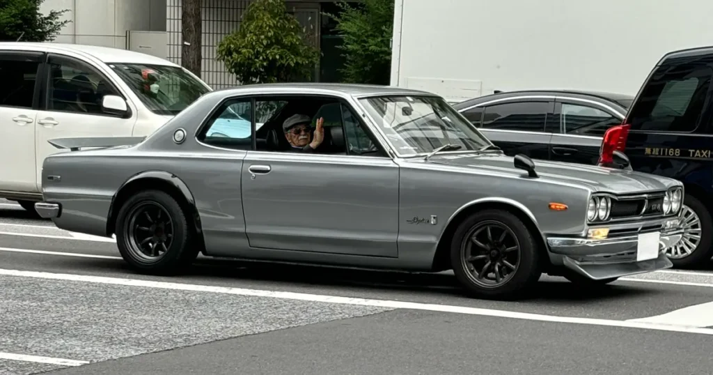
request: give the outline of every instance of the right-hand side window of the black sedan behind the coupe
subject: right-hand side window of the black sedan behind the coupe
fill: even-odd
[[[568,103],[562,104],[560,119],[565,133],[580,136],[604,136],[607,129],[622,123],[601,109]]]

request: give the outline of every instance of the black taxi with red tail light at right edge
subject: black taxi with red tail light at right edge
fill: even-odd
[[[709,266],[713,257],[712,79],[713,46],[666,54],[622,124],[605,132],[600,149],[600,165],[612,165],[615,151],[621,151],[631,169],[684,183],[686,231],[677,246],[667,249],[675,268]]]

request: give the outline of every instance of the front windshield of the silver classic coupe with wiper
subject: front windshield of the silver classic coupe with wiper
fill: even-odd
[[[399,154],[416,155],[440,146],[461,146],[458,151],[491,144],[446,101],[436,96],[379,96],[359,99],[376,126]]]

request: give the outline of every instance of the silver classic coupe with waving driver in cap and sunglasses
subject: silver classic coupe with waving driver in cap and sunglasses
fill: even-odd
[[[543,273],[596,286],[667,269],[682,235],[679,181],[506,156],[424,91],[240,86],[145,138],[49,142],[36,211],[116,236],[152,274],[199,253],[452,269],[474,296],[511,299]]]

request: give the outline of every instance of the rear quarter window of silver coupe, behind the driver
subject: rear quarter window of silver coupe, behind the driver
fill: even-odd
[[[198,141],[225,149],[250,150],[250,99],[225,101],[198,134]]]

